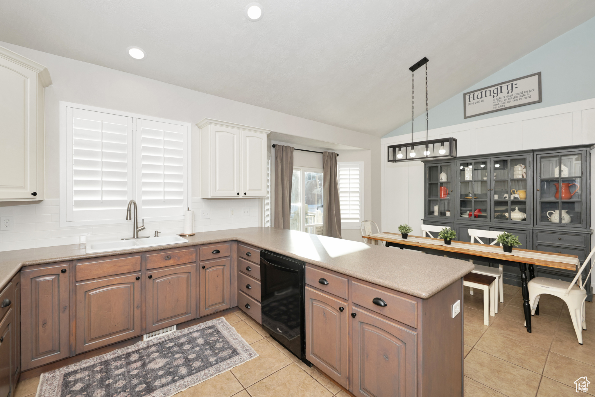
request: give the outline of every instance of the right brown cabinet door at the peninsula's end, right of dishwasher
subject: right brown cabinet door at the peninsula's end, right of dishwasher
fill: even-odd
[[[417,334],[357,308],[352,312],[353,394],[415,396]]]

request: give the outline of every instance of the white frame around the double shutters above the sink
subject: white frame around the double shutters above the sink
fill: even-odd
[[[132,117],[133,119],[133,173],[131,175],[131,183],[133,184],[133,199],[135,201],[138,200],[138,190],[137,189],[137,130],[136,130],[136,119],[142,118],[143,120],[152,120],[158,121],[161,123],[170,123],[170,124],[177,124],[179,126],[185,126],[187,128],[187,144],[184,147],[184,167],[186,168],[186,186],[187,192],[186,196],[184,197],[184,205],[186,207],[190,207],[192,203],[192,159],[190,158],[190,149],[192,147],[192,142],[190,139],[192,138],[192,124],[191,123],[184,123],[183,121],[177,120],[169,120],[167,118],[160,118],[160,117],[152,117],[144,114],[137,114],[125,111],[118,111],[106,108],[99,108],[95,106],[88,106],[88,105],[81,105],[81,104],[74,104],[72,102],[64,102],[60,101],[60,227],[68,227],[68,226],[94,226],[94,225],[104,225],[104,224],[111,224],[111,225],[126,225],[129,224],[131,221],[126,221],[126,213],[123,212],[122,214],[122,221],[121,222],[114,222],[114,220],[91,220],[91,221],[67,221],[66,214],[67,214],[67,183],[66,183],[66,173],[67,173],[67,158],[66,158],[66,142],[67,142],[67,121],[66,121],[66,108],[77,108],[82,110],[88,111],[95,111],[95,112],[102,112],[102,113],[109,113],[115,115],[121,115],[124,117]],[[142,217],[142,210],[139,205],[139,218]],[[183,220],[184,216],[180,215],[177,217],[159,217],[159,218],[145,218],[146,221],[151,220],[159,220],[159,221],[170,221],[170,220]]]

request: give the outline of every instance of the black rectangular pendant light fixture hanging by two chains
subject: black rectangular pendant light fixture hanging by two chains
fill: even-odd
[[[415,71],[425,65],[425,140],[415,142],[414,137],[414,82]],[[428,58],[424,57],[411,70],[411,143],[401,143],[388,147],[388,161],[399,162],[424,158],[456,157],[456,139],[453,137],[428,140]],[[436,152],[436,146],[439,146]],[[430,150],[431,149],[431,150]],[[416,152],[417,150],[417,152]],[[423,153],[423,155],[421,155]]]

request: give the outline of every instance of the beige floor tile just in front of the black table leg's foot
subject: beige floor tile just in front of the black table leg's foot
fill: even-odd
[[[490,330],[484,333],[479,342],[475,344],[474,349],[502,358],[502,360],[512,362],[512,364],[538,374],[543,371],[547,360],[547,350],[497,332],[490,332]]]

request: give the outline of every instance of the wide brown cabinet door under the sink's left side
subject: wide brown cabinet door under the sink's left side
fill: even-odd
[[[76,353],[140,335],[140,273],[76,284]]]

